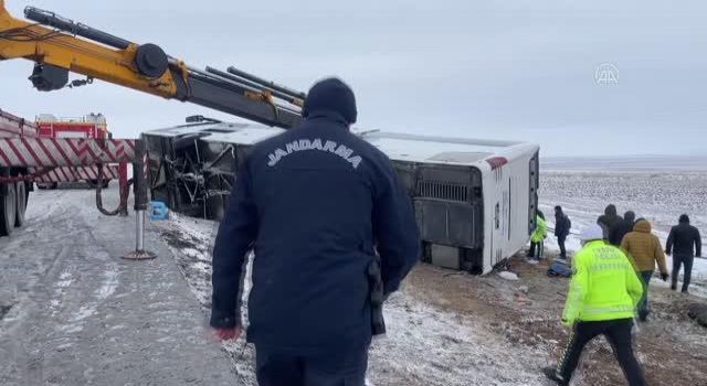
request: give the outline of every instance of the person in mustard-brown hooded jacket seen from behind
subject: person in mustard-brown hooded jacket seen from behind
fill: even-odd
[[[633,226],[633,232],[623,237],[621,249],[625,250],[635,264],[636,270],[643,279],[643,299],[639,304],[639,319],[645,322],[648,318],[648,283],[658,264],[661,279],[667,281],[667,268],[665,267],[665,254],[661,240],[651,233],[651,223],[640,218]]]

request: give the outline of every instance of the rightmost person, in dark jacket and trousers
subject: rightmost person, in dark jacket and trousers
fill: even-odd
[[[703,254],[703,240],[699,230],[689,225],[689,217],[684,214],[678,219],[678,225],[671,229],[665,244],[665,254],[673,253],[673,277],[671,280],[671,289],[677,289],[677,276],[680,272],[680,266],[685,264],[685,277],[683,279],[683,293],[687,293],[689,280],[693,276],[693,260],[695,256],[700,257]]]

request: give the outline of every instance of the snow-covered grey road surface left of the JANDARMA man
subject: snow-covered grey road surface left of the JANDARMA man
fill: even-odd
[[[117,189],[104,192],[114,206]],[[106,217],[91,190],[30,195],[0,238],[0,385],[234,385],[159,235],[128,261],[135,217]]]

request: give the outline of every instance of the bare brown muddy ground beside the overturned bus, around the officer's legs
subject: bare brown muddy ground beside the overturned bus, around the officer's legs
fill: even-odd
[[[559,322],[568,279],[549,278],[549,262],[510,261],[518,281],[492,275],[487,278],[453,275],[420,265],[409,278],[421,300],[458,313],[474,325],[486,324],[499,339],[515,345],[544,347],[555,364],[564,349],[569,330]],[[527,294],[519,289],[527,287]],[[409,289],[410,290],[410,289]],[[690,303],[704,299],[667,288],[651,287],[653,313],[641,323],[636,353],[650,385],[707,385],[707,329],[688,317]],[[603,339],[588,346],[576,385],[622,385],[621,368]]]

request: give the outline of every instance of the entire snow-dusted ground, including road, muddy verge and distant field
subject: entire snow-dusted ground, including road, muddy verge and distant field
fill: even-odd
[[[541,208],[564,206],[574,232],[611,202],[653,221],[662,238],[684,212],[705,230],[704,192],[707,172],[698,170],[544,169],[540,190]],[[115,203],[115,191],[108,195]],[[255,385],[253,347],[209,339],[217,223],[176,214],[148,222],[147,245],[159,258],[125,261],[134,218],[101,216],[93,199],[87,190],[33,193],[28,225],[0,238],[0,384]],[[570,249],[578,246],[570,237]],[[518,280],[415,267],[386,303],[388,334],[373,342],[369,384],[549,385],[539,369],[555,364],[567,340],[559,322],[567,280],[548,278],[547,261],[516,258],[508,267]],[[696,270],[689,297],[654,281],[653,319],[636,336],[651,384],[707,385],[707,335],[686,313],[704,303],[695,294],[706,285],[705,260]],[[599,340],[574,384],[621,379]]]

